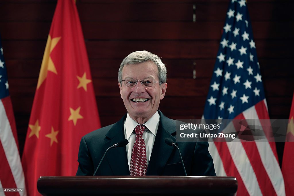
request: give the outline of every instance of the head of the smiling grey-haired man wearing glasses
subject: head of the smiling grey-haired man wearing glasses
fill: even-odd
[[[143,125],[157,112],[159,102],[165,95],[166,67],[162,62],[157,66],[152,61],[134,64],[136,60],[132,56],[137,53],[131,53],[122,62],[118,86],[128,115]]]

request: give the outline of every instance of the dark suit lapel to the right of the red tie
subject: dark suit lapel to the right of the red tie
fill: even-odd
[[[174,149],[165,143],[165,138],[171,138],[176,143],[176,138],[173,136],[176,132],[176,126],[171,119],[167,118],[158,110],[160,121],[156,138],[154,141],[151,158],[149,160],[147,175],[161,175],[171,153]]]

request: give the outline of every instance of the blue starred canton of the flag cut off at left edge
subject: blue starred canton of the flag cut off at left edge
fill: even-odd
[[[6,65],[4,62],[3,48],[0,35],[0,99],[9,96],[9,85],[7,80]]]

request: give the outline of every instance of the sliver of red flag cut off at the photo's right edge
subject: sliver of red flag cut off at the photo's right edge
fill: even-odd
[[[284,147],[282,172],[285,181],[286,195],[294,195],[294,94]]]

